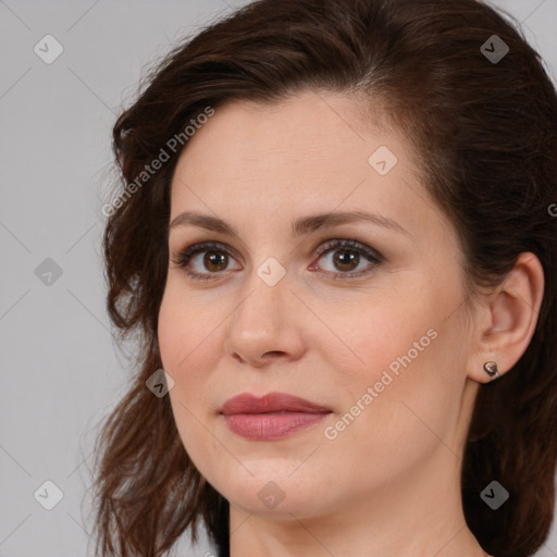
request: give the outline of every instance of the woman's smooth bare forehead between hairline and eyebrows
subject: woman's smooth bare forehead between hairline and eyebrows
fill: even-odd
[[[354,97],[321,92],[215,109],[178,160],[171,220],[197,210],[242,228],[338,208],[381,212],[407,230],[431,223],[438,209],[404,143],[362,114]]]

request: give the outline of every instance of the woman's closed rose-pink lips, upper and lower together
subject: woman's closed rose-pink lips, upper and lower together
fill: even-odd
[[[331,410],[286,393],[243,393],[222,406],[228,429],[248,440],[277,440],[323,420]]]

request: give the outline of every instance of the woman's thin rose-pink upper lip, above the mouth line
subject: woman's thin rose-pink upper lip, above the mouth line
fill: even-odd
[[[234,413],[280,412],[281,410],[308,413],[331,411],[329,408],[314,405],[309,400],[298,396],[288,395],[287,393],[269,393],[262,397],[258,397],[250,393],[243,393],[228,398],[228,400],[226,400],[222,406],[220,412],[228,416]]]

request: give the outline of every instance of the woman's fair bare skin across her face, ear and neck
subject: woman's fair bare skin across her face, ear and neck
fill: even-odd
[[[384,176],[368,162],[380,146],[398,159]],[[159,315],[178,433],[231,504],[232,557],[486,555],[466,525],[461,457],[475,395],[490,381],[483,363],[495,360],[504,373],[533,334],[543,295],[537,259],[523,253],[497,289],[467,299],[458,237],[418,183],[404,138],[367,121],[354,98],[331,92],[219,108],[173,176],[170,221],[186,210],[239,234],[171,228]],[[379,213],[407,233],[358,222],[290,236],[298,216],[348,210]],[[385,260],[371,268],[360,256],[343,268],[334,257],[350,248],[315,255],[336,238]],[[208,253],[198,252],[188,269],[213,278],[194,281],[175,261],[210,240],[228,247],[228,260],[207,267]],[[270,257],[286,271],[274,286],[257,273]],[[429,346],[327,438],[325,428],[431,330]],[[332,413],[273,441],[245,440],[219,413],[239,393],[273,391]],[[258,497],[270,481],[284,495],[273,508]]]

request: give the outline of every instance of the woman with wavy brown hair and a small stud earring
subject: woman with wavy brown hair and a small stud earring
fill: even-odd
[[[99,554],[523,557],[553,520],[557,95],[475,0],[261,0],[114,126],[137,373]],[[139,348],[140,347],[140,348]]]

